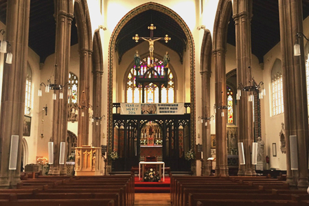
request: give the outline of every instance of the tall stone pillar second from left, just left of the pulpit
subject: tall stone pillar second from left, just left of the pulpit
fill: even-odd
[[[55,4],[56,18],[56,45],[55,45],[55,80],[56,84],[65,85],[69,81],[69,60],[71,48],[71,21],[73,20],[73,1],[58,0]],[[54,82],[52,82],[54,83]],[[63,99],[60,100],[60,91],[54,91],[57,99],[54,100],[52,141],[54,141],[53,175],[66,175],[66,165],[59,164],[60,142],[67,144],[67,91],[63,87]],[[66,161],[66,159],[65,159]]]

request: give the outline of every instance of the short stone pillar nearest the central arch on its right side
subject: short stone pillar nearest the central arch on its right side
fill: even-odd
[[[202,113],[205,115],[204,121],[207,122],[207,126],[205,123],[202,123],[202,142],[203,142],[203,156],[205,162],[205,170],[203,170],[204,175],[209,176],[211,174],[212,162],[207,161],[209,157],[211,157],[211,134],[210,128],[211,125],[209,122],[211,119],[207,119],[211,116],[210,113],[210,71],[201,71],[202,76]]]

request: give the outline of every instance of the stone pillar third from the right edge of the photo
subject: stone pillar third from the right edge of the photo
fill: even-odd
[[[214,66],[216,70],[216,175],[229,176],[227,168],[227,109],[218,109],[227,105],[227,82],[225,74],[225,50],[215,49]],[[222,117],[221,113],[224,113]]]

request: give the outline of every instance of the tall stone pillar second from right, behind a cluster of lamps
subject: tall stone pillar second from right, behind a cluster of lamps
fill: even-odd
[[[252,0],[233,1],[233,19],[236,30],[236,65],[238,85],[252,85],[251,76],[251,17]],[[242,91],[238,100],[238,141],[244,144],[245,165],[240,165],[238,175],[255,175],[251,164],[253,143],[253,104],[249,102],[252,92]]]

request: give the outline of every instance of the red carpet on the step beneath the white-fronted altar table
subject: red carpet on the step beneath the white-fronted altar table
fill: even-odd
[[[163,183],[140,182],[135,176],[135,193],[170,193],[170,177],[165,176]]]

